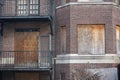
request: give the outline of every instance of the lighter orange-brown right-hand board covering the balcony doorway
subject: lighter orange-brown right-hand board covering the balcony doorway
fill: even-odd
[[[38,36],[39,32],[24,32],[24,51],[31,51],[29,54],[24,53],[26,56],[26,63],[37,65],[38,62]]]

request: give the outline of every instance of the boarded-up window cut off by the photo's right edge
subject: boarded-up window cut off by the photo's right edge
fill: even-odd
[[[116,27],[116,48],[117,53],[120,53],[120,26]]]

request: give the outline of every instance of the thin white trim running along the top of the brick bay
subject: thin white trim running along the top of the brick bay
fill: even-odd
[[[66,3],[64,5],[60,5],[57,6],[56,9],[62,8],[62,7],[66,7],[66,6],[70,6],[70,5],[117,5],[117,3],[114,2],[69,2]]]

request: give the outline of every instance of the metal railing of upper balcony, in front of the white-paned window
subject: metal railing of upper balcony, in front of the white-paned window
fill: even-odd
[[[34,1],[38,2],[36,3]],[[29,17],[50,15],[51,15],[51,0],[0,1],[0,17]]]

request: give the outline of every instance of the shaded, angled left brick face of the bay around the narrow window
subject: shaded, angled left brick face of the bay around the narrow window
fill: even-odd
[[[70,7],[64,7],[64,8],[61,8],[59,10],[57,10],[57,24],[56,24],[56,29],[55,29],[55,43],[56,43],[56,46],[55,46],[55,50],[57,51],[56,54],[59,54],[60,52],[60,28],[62,26],[66,26],[66,32],[69,33],[70,30],[69,30],[69,26],[70,26]],[[67,37],[67,42],[66,44],[69,46],[69,34],[66,35]],[[67,47],[67,52],[69,51],[69,47]]]

